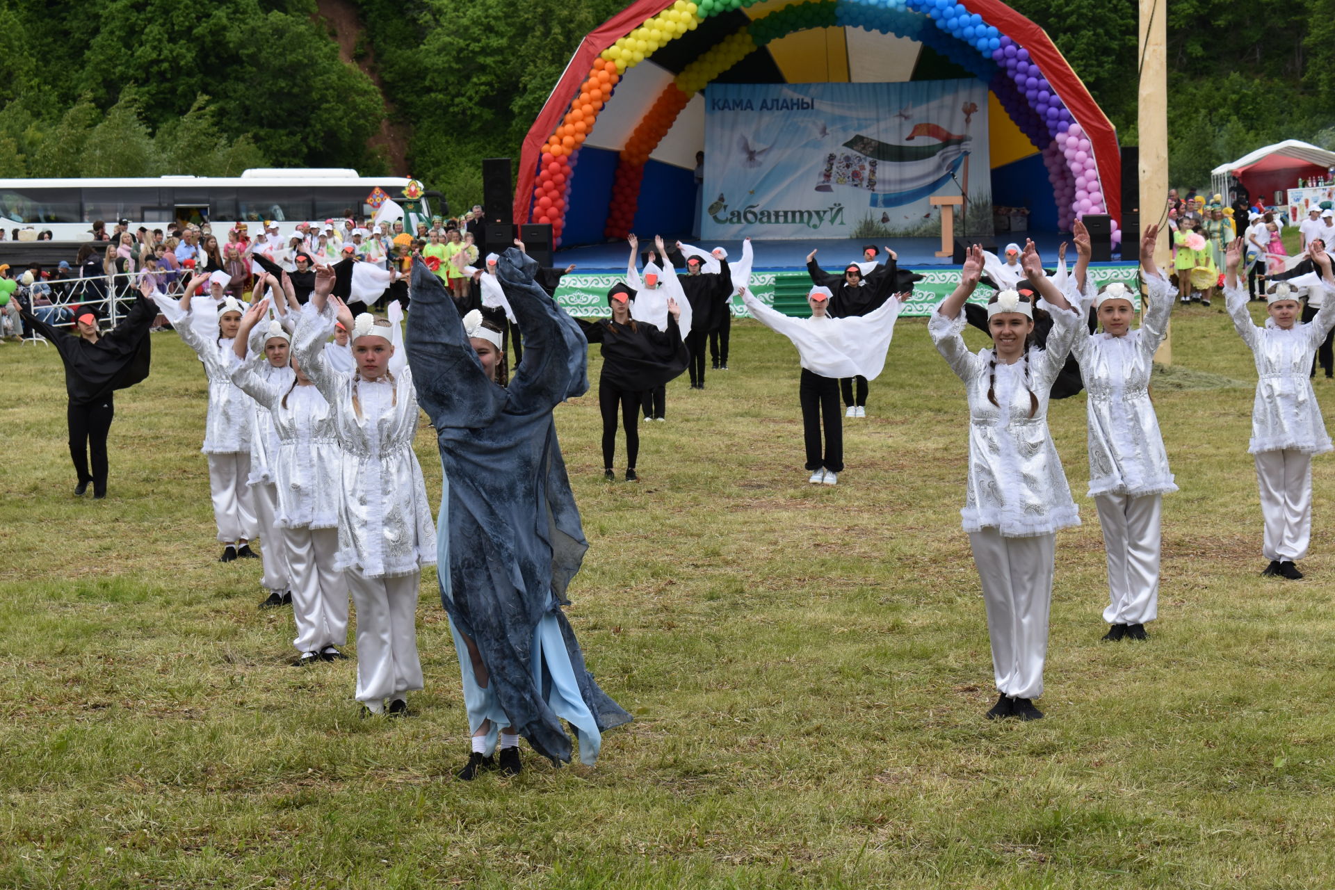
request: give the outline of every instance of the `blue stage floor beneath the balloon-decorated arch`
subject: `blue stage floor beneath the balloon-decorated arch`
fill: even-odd
[[[1000,232],[995,236],[997,252],[1000,254],[1009,242],[1016,242],[1024,247],[1025,238],[1033,239],[1039,252],[1043,255],[1044,263],[1048,266],[1052,266],[1056,262],[1057,246],[1061,244],[1061,242],[1071,240],[1071,235],[1063,235],[1060,232]],[[728,251],[728,256],[734,259],[741,256],[742,251],[741,242],[710,242],[708,239],[692,239],[689,236],[663,236],[663,242],[669,246],[677,240],[682,240],[688,244],[694,244],[696,247],[702,247],[705,250],[722,247]],[[900,266],[906,268],[920,270],[926,267],[940,268],[953,266],[949,256],[936,256],[936,251],[941,246],[940,238],[902,238],[881,239],[876,242],[841,238],[794,242],[752,242],[752,247],[756,251],[753,268],[756,271],[802,270],[806,268],[806,255],[813,248],[820,251],[816,255],[816,260],[821,264],[821,268],[838,268],[846,263],[861,260],[862,246],[868,243],[874,243],[877,247],[893,247],[894,252],[898,255]],[[643,252],[647,250],[653,250],[651,235],[647,238],[639,238],[639,251]],[[625,242],[587,244],[582,247],[558,250],[554,266],[569,266],[570,263],[574,263],[581,272],[617,272],[626,268],[626,259],[629,255],[630,248]],[[1113,256],[1116,258],[1116,252]],[[885,259],[884,252],[880,259]],[[1067,248],[1067,259],[1072,263],[1075,262],[1075,246]]]

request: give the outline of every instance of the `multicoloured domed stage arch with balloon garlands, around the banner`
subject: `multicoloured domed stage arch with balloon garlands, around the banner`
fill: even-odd
[[[1031,156],[1024,197],[1060,230],[1108,213],[1120,240],[1116,131],[1047,33],[997,0],[638,0],[583,39],[525,137],[514,217],[550,223],[558,244],[686,231],[710,83],[933,76],[987,84],[993,165]]]

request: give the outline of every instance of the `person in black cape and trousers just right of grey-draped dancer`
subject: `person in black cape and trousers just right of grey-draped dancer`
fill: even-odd
[[[630,316],[633,294],[625,284],[607,291],[610,319],[579,322],[585,339],[602,344],[602,374],[598,376],[598,408],[602,411],[602,464],[607,482],[615,482],[613,458],[617,454],[617,411],[626,424],[626,482],[637,482],[639,455],[639,407],[647,390],[666,386],[686,370],[689,360],[682,343],[681,307],[668,298],[668,330]]]

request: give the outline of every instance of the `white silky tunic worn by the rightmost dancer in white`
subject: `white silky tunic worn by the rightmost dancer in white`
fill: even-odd
[[[1335,324],[1335,288],[1324,287],[1320,311],[1307,324],[1292,328],[1258,327],[1247,311],[1247,288],[1224,288],[1224,303],[1234,327],[1251,347],[1256,363],[1256,400],[1252,403],[1252,436],[1247,451],[1282,451],[1292,448],[1304,454],[1331,450],[1331,438],[1316,404],[1312,371],[1316,347]]]

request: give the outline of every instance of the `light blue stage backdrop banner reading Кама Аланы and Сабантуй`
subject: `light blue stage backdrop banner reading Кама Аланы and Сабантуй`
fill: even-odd
[[[987,108],[973,79],[710,84],[704,238],[940,235],[928,199],[961,189],[991,220]]]

